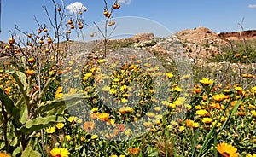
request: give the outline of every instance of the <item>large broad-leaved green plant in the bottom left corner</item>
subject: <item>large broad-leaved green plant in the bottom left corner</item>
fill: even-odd
[[[38,152],[32,150],[33,146],[26,147],[29,142],[32,142],[32,134],[52,124],[65,122],[65,119],[61,116],[64,110],[84,99],[84,94],[41,102],[50,82],[54,80],[53,78],[49,78],[41,92],[35,92],[29,96],[28,92],[31,91],[31,86],[26,80],[30,80],[30,78],[27,78],[21,72],[12,72],[12,75],[19,85],[22,95],[15,103],[0,88],[5,149],[15,149],[15,154],[22,153],[22,156],[39,156]],[[20,147],[25,149],[19,153],[19,150],[22,151]]]

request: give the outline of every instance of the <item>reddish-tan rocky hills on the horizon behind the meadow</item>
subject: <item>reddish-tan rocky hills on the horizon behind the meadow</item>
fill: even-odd
[[[243,38],[246,40],[256,39],[256,30],[216,33],[206,27],[196,27],[194,29],[176,32],[172,37],[167,38],[156,38],[152,32],[143,32],[136,34],[132,38],[109,40],[107,49],[111,51],[122,47],[135,47],[136,49],[147,49],[149,51],[164,53],[168,49],[163,47],[163,43],[165,46],[168,45],[169,50],[170,45],[177,46],[178,44],[191,60],[205,60],[217,55],[219,46],[229,45],[230,40],[241,40]],[[61,43],[61,45],[63,45],[61,47],[65,47],[66,44],[67,43]],[[8,55],[6,53],[7,45],[8,44],[0,42],[0,57]],[[86,47],[88,47],[88,45]],[[99,43],[97,47],[99,53],[101,53],[102,44]],[[174,49],[172,49],[172,51],[173,55],[183,54],[180,51],[175,52]],[[97,55],[97,50],[93,55]]]

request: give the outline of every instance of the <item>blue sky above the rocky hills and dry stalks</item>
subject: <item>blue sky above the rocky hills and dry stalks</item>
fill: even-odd
[[[61,4],[61,0],[55,0]],[[107,0],[109,3],[112,1]],[[213,32],[234,32],[241,28],[238,23],[244,18],[245,30],[256,29],[256,0],[121,0],[121,9],[114,17],[134,16],[160,23],[170,32],[206,26]],[[84,20],[88,24],[104,20],[103,0],[63,0],[65,5],[81,2],[88,9]],[[53,9],[51,0],[2,0],[2,33],[0,40],[8,41],[15,25],[24,32],[36,32],[34,16],[48,23],[43,6]],[[127,23],[126,25],[133,25]],[[149,26],[145,26],[150,27]],[[85,30],[87,27],[84,28]],[[142,31],[142,30],[140,30]]]

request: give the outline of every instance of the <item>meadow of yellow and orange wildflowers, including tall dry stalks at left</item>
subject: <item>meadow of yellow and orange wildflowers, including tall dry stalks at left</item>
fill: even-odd
[[[137,41],[113,44],[119,1],[102,1],[103,27],[94,23],[89,34],[86,8],[70,15],[50,2],[54,15],[44,10],[52,25],[37,20],[30,33],[16,26],[4,47],[0,156],[256,156],[256,74],[240,68],[253,65],[251,44],[235,54],[225,47],[212,62],[234,61],[238,69],[215,74],[182,57],[133,49]]]

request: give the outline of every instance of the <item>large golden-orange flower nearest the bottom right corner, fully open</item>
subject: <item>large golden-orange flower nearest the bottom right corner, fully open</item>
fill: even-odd
[[[218,143],[217,145],[218,153],[224,157],[238,157],[237,148],[233,147],[227,143]]]

